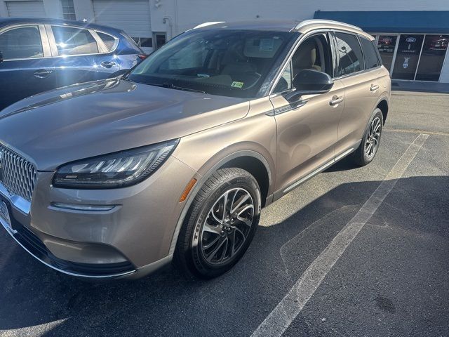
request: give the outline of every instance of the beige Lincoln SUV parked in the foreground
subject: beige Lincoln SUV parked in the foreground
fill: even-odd
[[[136,278],[173,260],[216,277],[263,206],[343,157],[373,160],[390,89],[358,27],[200,25],[121,77],[2,110],[0,222],[68,275]]]

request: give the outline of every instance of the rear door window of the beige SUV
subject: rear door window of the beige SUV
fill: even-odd
[[[340,59],[336,77],[361,71],[363,55],[357,37],[352,34],[335,33],[335,39]]]

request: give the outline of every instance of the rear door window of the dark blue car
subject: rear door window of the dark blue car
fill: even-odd
[[[51,26],[59,55],[98,53],[97,41],[87,29]]]

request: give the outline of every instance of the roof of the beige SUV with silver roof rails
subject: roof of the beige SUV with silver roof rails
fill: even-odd
[[[342,29],[349,32],[370,37],[369,34],[354,25],[333,20],[248,20],[234,22],[205,22],[194,29],[236,29],[236,30],[260,30],[272,32],[300,32],[305,33],[314,29]]]

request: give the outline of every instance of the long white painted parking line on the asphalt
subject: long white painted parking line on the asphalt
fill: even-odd
[[[396,185],[398,179],[403,176],[408,165],[413,161],[427,138],[429,138],[429,135],[424,133],[420,133],[420,136],[417,136],[354,218],[343,227],[326,249],[309,265],[292,289],[288,291],[287,295],[276,305],[276,308],[264,319],[260,326],[255,329],[251,337],[282,336],[293,322],[293,319],[297,317],[304,305],[318,289],[324,277],[326,277],[333,265],[335,265],[349,244],[357,236],[358,232],[377,211],[382,201]]]

